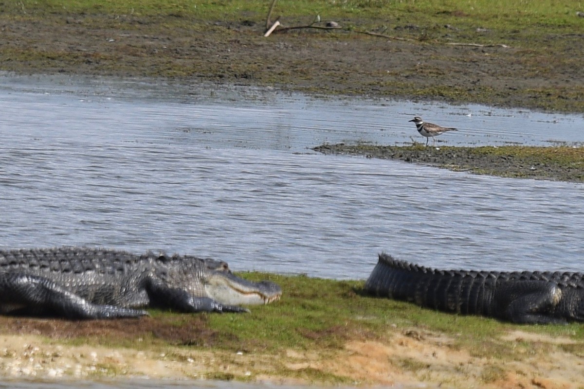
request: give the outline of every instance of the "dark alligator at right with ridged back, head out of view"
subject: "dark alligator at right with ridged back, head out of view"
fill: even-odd
[[[367,292],[523,324],[584,321],[584,274],[437,270],[380,254]]]

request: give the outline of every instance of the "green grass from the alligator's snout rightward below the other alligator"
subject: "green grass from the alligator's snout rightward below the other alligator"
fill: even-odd
[[[492,318],[442,313],[363,295],[362,281],[258,273],[245,274],[245,278],[269,278],[281,285],[284,295],[277,303],[251,307],[248,315],[209,315],[210,327],[225,335],[228,340],[224,346],[228,349],[237,339],[239,346],[250,351],[334,350],[349,339],[387,341],[412,328],[451,338],[452,347],[467,349],[471,355],[502,360],[522,358],[523,352],[533,347],[529,342],[517,346],[500,338],[513,330],[584,343],[580,324],[515,325]],[[578,352],[576,349],[574,352]]]

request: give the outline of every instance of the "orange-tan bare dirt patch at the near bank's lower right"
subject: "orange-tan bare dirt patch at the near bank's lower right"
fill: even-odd
[[[582,369],[572,370],[571,363],[566,362],[568,355],[561,352],[543,359],[531,356],[501,363],[459,350],[449,339],[415,339],[406,335],[397,335],[391,344],[354,342],[346,347],[353,355],[343,369],[360,374],[363,379],[375,377],[380,384],[426,382],[445,387],[568,388],[582,382]]]

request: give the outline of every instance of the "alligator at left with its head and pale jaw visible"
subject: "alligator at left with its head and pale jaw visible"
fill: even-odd
[[[249,312],[239,304],[267,304],[281,289],[235,276],[226,262],[90,247],[0,250],[0,313],[123,318],[145,307],[180,312]]]

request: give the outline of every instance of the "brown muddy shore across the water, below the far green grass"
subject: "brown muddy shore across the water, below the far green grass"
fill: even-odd
[[[0,70],[584,111],[580,34],[508,34],[440,24],[428,28],[409,20],[338,22],[345,28],[293,30],[265,38],[260,16],[196,20],[16,10],[0,15]],[[282,23],[305,21],[283,18]],[[391,38],[359,33],[376,26],[389,27],[385,35]]]

